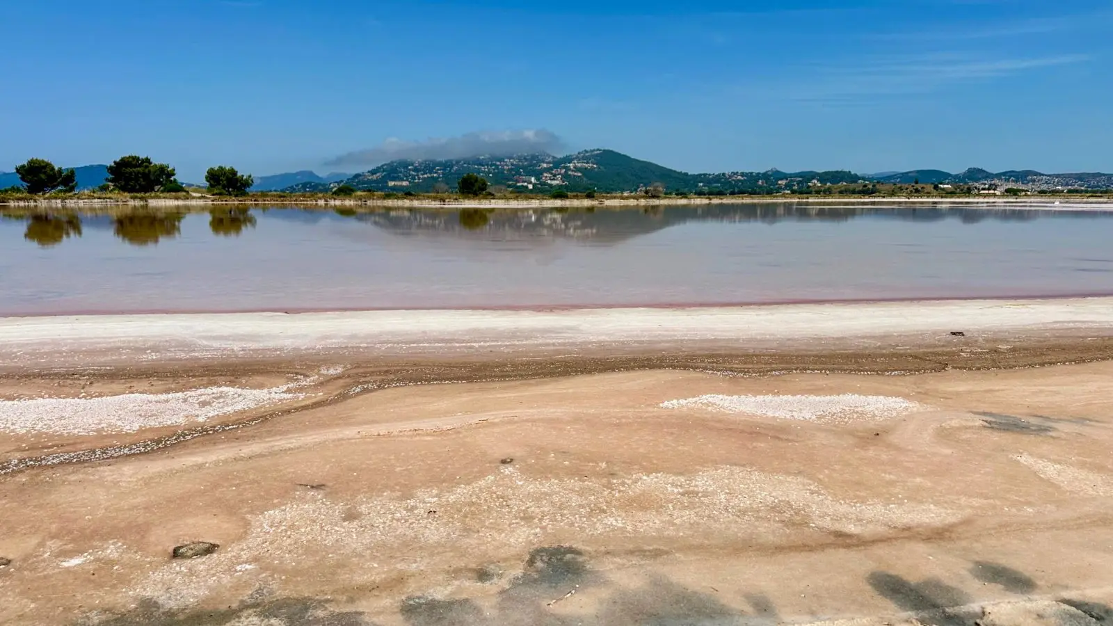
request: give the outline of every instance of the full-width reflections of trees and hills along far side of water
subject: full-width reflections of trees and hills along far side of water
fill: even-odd
[[[957,219],[964,224],[983,221],[1028,222],[1038,218],[1113,218],[1100,211],[1050,211],[1001,206],[874,206],[824,205],[814,203],[658,205],[637,208],[396,208],[371,209],[339,207],[334,211],[257,207],[214,207],[209,229],[214,235],[234,237],[254,228],[256,215],[295,224],[343,223],[356,219],[383,232],[420,237],[454,237],[489,242],[530,242],[542,245],[559,239],[593,244],[614,244],[641,235],[689,223],[778,224],[782,222],[848,222],[899,219],[940,222]],[[42,212],[26,208],[0,209],[7,219],[27,222],[24,238],[42,247],[56,246],[69,237],[80,237],[82,226],[107,229],[136,246],[157,244],[180,234],[186,213],[180,211],[139,209],[115,215],[79,215],[72,211]]]

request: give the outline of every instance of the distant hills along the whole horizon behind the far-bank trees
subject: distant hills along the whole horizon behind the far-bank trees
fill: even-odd
[[[96,188],[108,177],[107,166],[104,165],[87,165],[75,169],[79,189]],[[805,189],[816,183],[838,185],[871,182],[896,185],[996,185],[1002,188],[1014,186],[1033,190],[1113,189],[1113,174],[1043,174],[1032,169],[993,173],[971,168],[958,174],[942,169],[915,169],[873,175],[846,170],[778,169],[688,174],[614,150],[594,149],[562,157],[524,154],[449,160],[394,160],[356,175],[333,173],[319,176],[309,170],[292,172],[256,177],[252,190],[319,193],[346,184],[361,190],[429,193],[442,185],[455,189],[460,177],[469,173],[483,176],[492,186],[540,193],[555,189],[626,193],[660,184],[669,190],[689,193],[776,194]],[[19,184],[19,177],[14,173],[0,174],[0,189]]]

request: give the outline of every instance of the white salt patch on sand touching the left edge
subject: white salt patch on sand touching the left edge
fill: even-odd
[[[204,422],[303,398],[292,392],[292,387],[210,387],[176,393],[0,400],[0,432],[96,434]]]

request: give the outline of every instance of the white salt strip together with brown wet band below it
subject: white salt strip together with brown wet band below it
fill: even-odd
[[[324,356],[544,361],[943,350],[968,360],[1045,344],[1060,346],[1048,362],[1066,362],[1072,350],[1080,360],[1109,358],[1111,339],[1113,297],[0,319],[7,371]]]

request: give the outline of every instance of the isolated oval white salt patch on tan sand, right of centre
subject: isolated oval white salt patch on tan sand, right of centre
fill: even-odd
[[[889,395],[700,395],[687,400],[670,400],[662,409],[710,409],[825,423],[885,420],[915,411],[920,404]]]

